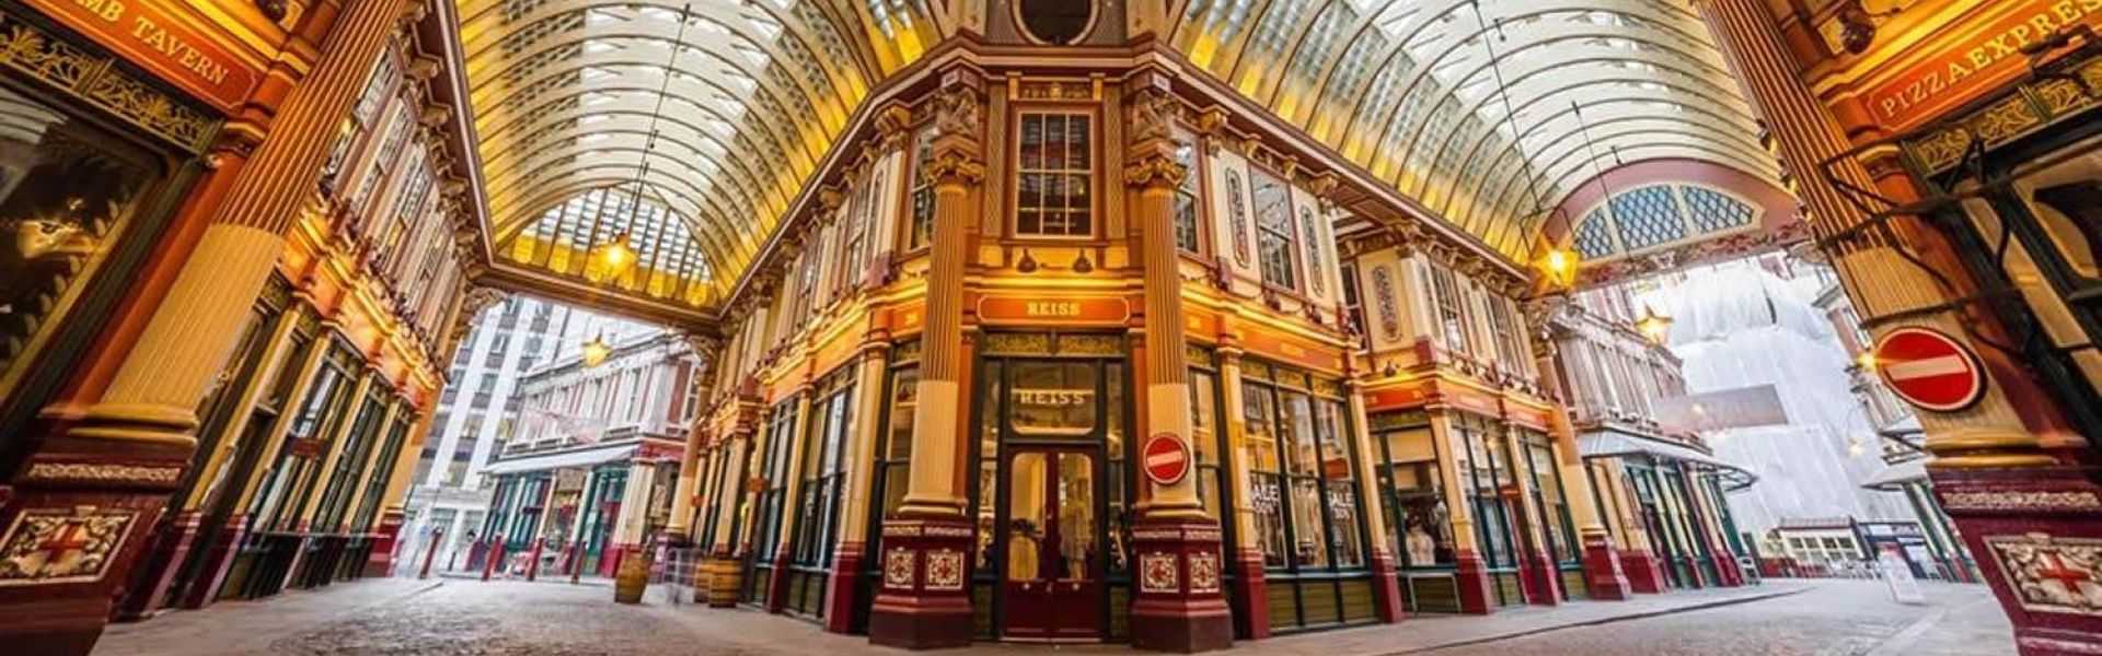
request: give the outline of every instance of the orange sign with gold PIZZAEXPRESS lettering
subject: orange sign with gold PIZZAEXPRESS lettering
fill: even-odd
[[[1951,42],[1909,46],[1932,55],[1869,88],[1864,99],[1879,124],[1902,130],[1932,120],[2026,71],[2028,55],[2022,55],[2022,46],[2068,25],[2102,23],[2102,0],[2007,0],[1980,6],[2007,11],[1978,25],[1949,29],[1946,34],[1961,34]]]

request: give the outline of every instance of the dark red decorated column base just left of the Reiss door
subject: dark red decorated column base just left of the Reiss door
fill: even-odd
[[[883,587],[868,641],[902,650],[971,643],[971,532],[965,517],[883,521]]]

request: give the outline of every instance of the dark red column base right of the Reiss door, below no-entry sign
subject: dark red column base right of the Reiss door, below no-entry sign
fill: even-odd
[[[1131,530],[1137,553],[1131,645],[1196,654],[1234,645],[1225,606],[1225,559],[1213,519],[1141,519]]]

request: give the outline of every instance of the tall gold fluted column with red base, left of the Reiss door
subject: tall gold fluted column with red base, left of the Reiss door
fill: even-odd
[[[933,160],[919,175],[933,181],[933,244],[927,267],[927,317],[921,341],[919,402],[912,418],[912,467],[898,517],[883,521],[883,585],[870,608],[868,641],[929,650],[971,643],[969,553],[963,477],[963,267],[980,210],[986,164],[984,80],[975,69],[940,74]]]

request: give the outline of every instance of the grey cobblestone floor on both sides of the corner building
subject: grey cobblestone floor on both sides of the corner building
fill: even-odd
[[[1879,582],[1770,582],[1759,589],[1644,595],[1488,618],[1417,616],[1368,627],[1240,643],[1280,656],[2005,656],[2007,620],[1984,587],[1923,585],[1928,606],[1900,606]],[[975,645],[944,654],[1125,654],[1118,645]],[[269,601],[221,603],[111,627],[95,656],[189,654],[904,654],[858,635],[750,610],[612,603],[603,585],[368,580]]]

